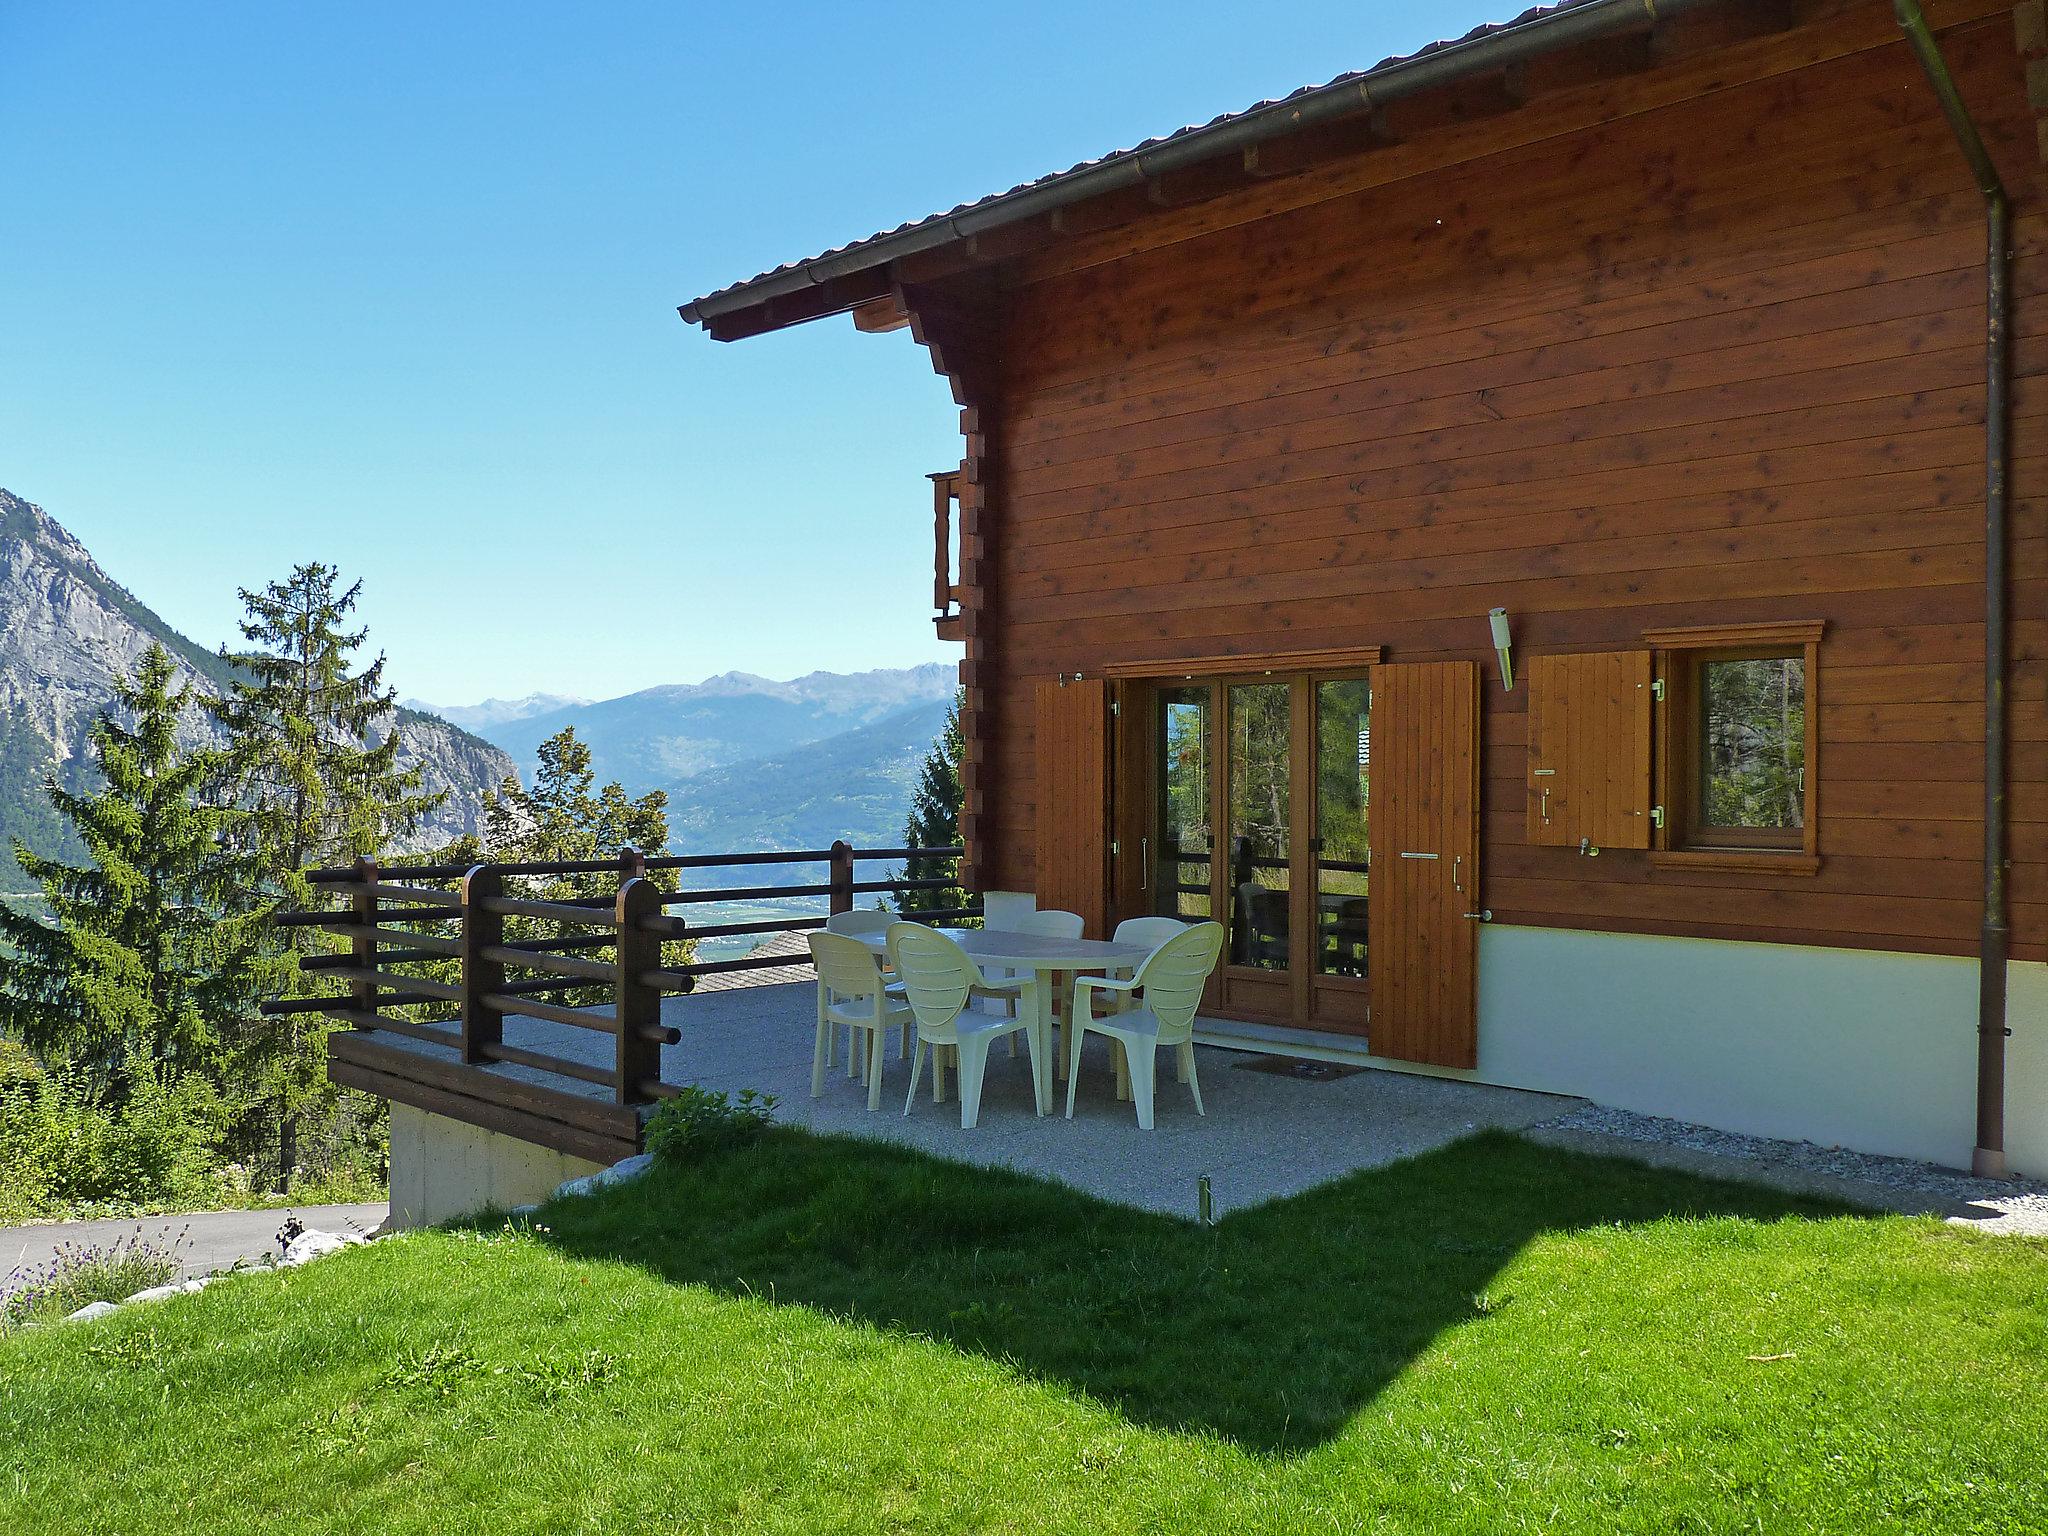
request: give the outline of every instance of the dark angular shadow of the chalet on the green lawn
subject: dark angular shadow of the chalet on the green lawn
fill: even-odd
[[[1532,1237],[1673,1214],[1851,1212],[1487,1133],[1202,1229],[778,1128],[545,1223],[575,1257],[928,1335],[1139,1423],[1294,1454],[1483,1315]]]

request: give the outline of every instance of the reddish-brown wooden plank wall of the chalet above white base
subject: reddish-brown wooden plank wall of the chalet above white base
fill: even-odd
[[[2015,954],[2044,958],[2048,227],[2009,10],[1937,25],[2023,195],[2013,895]],[[1528,694],[1489,666],[1485,901],[1970,952],[1982,289],[1982,203],[1884,6],[1026,258],[985,469],[985,883],[1032,885],[1057,672],[1487,659],[1495,604],[1522,657],[1825,618],[1817,877],[1530,846]]]

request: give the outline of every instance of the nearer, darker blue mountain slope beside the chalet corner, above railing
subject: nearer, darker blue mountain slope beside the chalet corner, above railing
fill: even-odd
[[[948,668],[950,672],[950,668]],[[918,768],[946,725],[952,702],[934,698],[899,709],[823,741],[711,768],[670,784],[670,846],[678,854],[739,848],[827,848],[846,838],[856,848],[895,848],[903,840]],[[700,885],[729,883],[729,870]],[[881,870],[862,870],[874,879]],[[782,885],[819,879],[793,870],[788,881],[766,866],[748,883]]]

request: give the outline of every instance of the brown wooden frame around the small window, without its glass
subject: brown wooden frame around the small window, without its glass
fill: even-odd
[[[1657,868],[1741,870],[1757,874],[1821,872],[1821,633],[1819,618],[1769,625],[1647,629],[1663,698],[1655,711],[1657,801],[1663,827],[1651,842]],[[1755,662],[1798,655],[1806,670],[1806,780],[1796,829],[1700,825],[1700,668],[1708,662]]]

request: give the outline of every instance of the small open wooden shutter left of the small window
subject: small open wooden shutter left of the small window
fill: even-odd
[[[1651,846],[1651,653],[1536,655],[1528,838],[1540,846]]]

